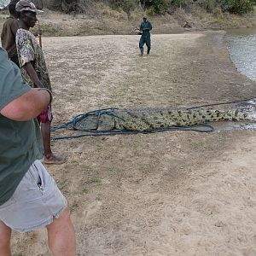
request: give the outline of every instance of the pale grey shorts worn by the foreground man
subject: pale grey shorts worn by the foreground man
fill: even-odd
[[[67,201],[36,160],[22,178],[15,194],[0,206],[0,220],[12,230],[38,230],[53,222],[67,207]]]

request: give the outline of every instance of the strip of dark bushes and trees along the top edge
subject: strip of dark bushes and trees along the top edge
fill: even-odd
[[[176,8],[185,8],[197,3],[207,12],[219,9],[232,14],[246,14],[253,11],[256,0],[33,0],[38,8],[60,10],[65,13],[83,13],[86,8],[96,2],[108,4],[113,9],[122,9],[126,13],[143,9],[148,15],[172,14]]]

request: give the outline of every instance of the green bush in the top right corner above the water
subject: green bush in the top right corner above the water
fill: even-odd
[[[218,0],[217,3],[224,12],[242,15],[253,11],[254,0]]]

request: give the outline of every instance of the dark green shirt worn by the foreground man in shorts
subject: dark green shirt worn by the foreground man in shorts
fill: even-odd
[[[31,90],[20,69],[0,48],[0,109]],[[0,205],[14,194],[34,160],[43,157],[43,144],[37,120],[18,122],[0,114]]]

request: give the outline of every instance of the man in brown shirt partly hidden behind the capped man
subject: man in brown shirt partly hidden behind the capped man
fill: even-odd
[[[19,66],[19,59],[16,49],[15,37],[19,28],[18,14],[15,10],[18,0],[13,0],[9,4],[9,18],[3,24],[3,30],[1,33],[1,43],[3,49],[6,49],[9,55],[9,59],[14,61]]]

